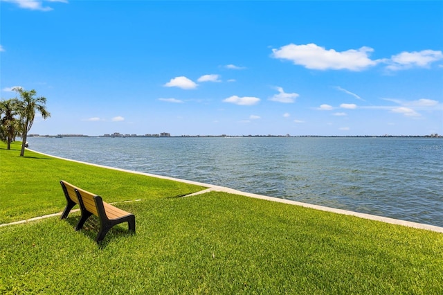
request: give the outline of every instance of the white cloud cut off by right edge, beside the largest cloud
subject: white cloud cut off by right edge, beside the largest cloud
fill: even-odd
[[[438,60],[443,60],[442,51],[404,51],[397,55],[392,55],[390,60],[388,60],[389,65],[386,66],[386,69],[399,71],[413,67],[426,68],[429,67],[431,63],[437,62]]]

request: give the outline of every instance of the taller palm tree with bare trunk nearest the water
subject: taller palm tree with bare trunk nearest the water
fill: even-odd
[[[21,152],[20,156],[25,154],[26,138],[28,137],[28,132],[30,127],[33,127],[35,111],[42,114],[44,119],[51,116],[51,114],[46,110],[46,98],[44,96],[39,96],[35,98],[34,96],[37,92],[32,89],[26,91],[21,87],[14,87],[12,90],[16,91],[20,95],[20,100],[18,102],[17,113],[20,117],[20,130],[21,130]]]

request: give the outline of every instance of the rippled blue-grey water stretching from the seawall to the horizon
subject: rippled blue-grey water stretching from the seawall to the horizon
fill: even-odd
[[[441,138],[28,138],[28,143],[59,157],[443,226]]]

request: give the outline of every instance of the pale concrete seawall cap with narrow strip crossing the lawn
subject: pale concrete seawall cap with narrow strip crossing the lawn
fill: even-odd
[[[103,166],[103,165],[99,165],[99,164],[88,163],[88,162],[78,161],[78,160],[73,160],[73,159],[66,159],[66,158],[63,158],[63,157],[53,156],[51,154],[44,154],[43,152],[37,152],[35,150],[30,150],[30,151],[35,152],[37,154],[42,154],[42,155],[47,156],[47,157],[53,157],[53,158],[56,158],[56,159],[61,159],[61,160],[64,160],[64,161],[73,161],[75,163],[82,163],[82,164],[96,166],[96,167],[100,167],[100,168],[113,169],[113,170],[118,170],[118,171],[121,171],[121,172],[128,172],[128,173],[137,174],[137,175],[145,175],[145,176],[148,176],[148,177],[156,177],[156,178],[168,179],[168,180],[172,180],[172,181],[179,181],[179,182],[183,182],[183,183],[186,183],[186,184],[195,184],[197,186],[208,187],[206,190],[200,190],[197,193],[192,193],[190,195],[186,195],[186,196],[183,196],[183,197],[191,197],[191,196],[195,196],[195,195],[201,195],[201,194],[204,194],[204,193],[209,193],[211,191],[222,192],[222,193],[231,193],[231,194],[234,194],[234,195],[243,195],[243,196],[246,196],[246,197],[253,197],[253,198],[256,198],[256,199],[266,199],[266,200],[271,201],[271,202],[279,202],[279,203],[284,203],[284,204],[291,204],[291,205],[296,205],[296,206],[302,206],[302,207],[305,207],[305,208],[312,208],[312,209],[316,209],[316,210],[320,210],[320,211],[327,211],[327,212],[343,214],[343,215],[352,215],[352,216],[360,217],[360,218],[367,219],[367,220],[375,220],[375,221],[379,221],[379,222],[385,222],[385,223],[388,223],[388,224],[397,224],[397,225],[401,225],[401,226],[413,227],[415,229],[426,229],[428,231],[436,231],[437,233],[443,233],[443,227],[434,226],[434,225],[430,225],[430,224],[421,224],[421,223],[418,223],[418,222],[409,222],[409,221],[406,221],[406,220],[397,220],[395,218],[390,218],[390,217],[383,217],[383,216],[379,216],[379,215],[372,215],[372,214],[367,214],[367,213],[359,213],[359,212],[348,211],[348,210],[343,210],[343,209],[331,208],[331,207],[327,207],[327,206],[320,206],[320,205],[296,202],[296,201],[292,201],[292,200],[289,200],[289,199],[280,199],[280,198],[277,198],[277,197],[269,197],[269,196],[257,195],[257,194],[253,194],[253,193],[245,193],[245,192],[242,192],[240,190],[234,190],[233,188],[226,188],[224,186],[215,186],[213,184],[204,184],[204,183],[201,183],[201,182],[198,182],[198,181],[190,181],[190,180],[178,179],[178,178],[174,178],[174,177],[165,177],[165,176],[154,175],[154,174],[145,173],[145,172],[138,172],[138,171],[134,171],[134,170],[127,170],[127,169],[115,168],[115,167],[110,167],[110,166]],[[6,226],[6,225],[18,224],[18,223],[23,223],[23,222],[33,221],[33,220],[39,220],[39,219],[42,219],[42,218],[45,218],[45,217],[53,217],[53,216],[57,216],[57,215],[60,215],[60,214],[62,214],[62,213],[60,212],[60,213],[45,215],[45,216],[42,216],[42,217],[35,217],[35,218],[31,218],[29,220],[21,220],[19,222],[11,222],[11,223],[8,223],[8,224],[0,224],[0,226]]]

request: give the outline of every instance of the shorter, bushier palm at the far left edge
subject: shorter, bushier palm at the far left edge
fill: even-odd
[[[17,102],[15,98],[0,101],[0,139],[6,141],[8,150],[11,148],[11,142],[19,133],[19,121],[17,115]]]

